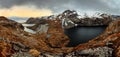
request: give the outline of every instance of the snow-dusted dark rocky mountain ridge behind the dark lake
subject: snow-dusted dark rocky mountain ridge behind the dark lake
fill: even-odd
[[[26,23],[28,24],[39,24],[43,23],[44,20],[50,20],[51,16],[48,17],[41,17],[41,18],[29,18]],[[107,14],[99,14],[99,17],[82,17],[74,10],[66,10],[63,13],[52,17],[52,20],[58,19],[62,22],[62,27],[64,29],[69,29],[75,26],[106,26],[114,20],[119,19],[119,17],[114,15],[107,15]]]

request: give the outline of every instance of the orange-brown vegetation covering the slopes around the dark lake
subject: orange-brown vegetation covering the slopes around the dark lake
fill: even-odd
[[[120,20],[110,23],[95,39],[73,48],[66,47],[69,38],[64,34],[60,20],[47,20],[47,23],[47,33],[30,34],[23,30],[24,27],[20,23],[0,17],[0,57],[9,57],[18,52],[16,49],[23,51],[29,48],[26,52],[38,56],[41,52],[68,53],[109,45],[114,49],[114,55],[120,57]]]

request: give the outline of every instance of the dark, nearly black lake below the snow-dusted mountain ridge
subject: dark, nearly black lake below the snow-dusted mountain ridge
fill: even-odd
[[[74,27],[65,30],[65,34],[70,38],[68,47],[77,46],[97,37],[106,29],[106,27],[107,26]]]

